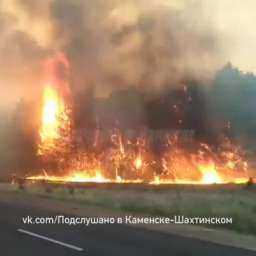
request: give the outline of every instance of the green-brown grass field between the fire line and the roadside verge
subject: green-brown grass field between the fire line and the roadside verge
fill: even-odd
[[[31,184],[11,191],[37,194],[58,200],[77,201],[118,211],[158,216],[232,217],[233,224],[221,226],[256,235],[256,188],[246,186],[99,186],[73,188]],[[212,225],[211,225],[212,227]]]

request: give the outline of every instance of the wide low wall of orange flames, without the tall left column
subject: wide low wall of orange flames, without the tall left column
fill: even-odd
[[[68,156],[63,170],[58,171],[59,175],[51,170],[53,175],[44,173],[28,179],[152,185],[241,184],[249,180],[248,164],[234,148],[229,149],[232,152],[223,150],[214,153],[209,145],[203,144],[199,145],[198,152],[191,154],[177,145],[179,139],[175,137],[175,142],[169,143],[169,149],[159,161],[150,153],[147,143],[133,143],[124,137],[121,140],[116,134],[110,135],[110,141],[114,145],[105,147],[100,153],[90,149],[73,152]]]

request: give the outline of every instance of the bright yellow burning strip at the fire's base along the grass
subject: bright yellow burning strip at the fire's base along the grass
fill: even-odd
[[[80,159],[81,160],[81,159]],[[88,159],[85,160],[85,163],[89,166],[90,163],[87,163]],[[124,161],[124,160],[122,160]],[[77,163],[77,167],[79,165],[83,167],[81,162]],[[122,162],[124,163],[124,162]],[[141,158],[136,158],[133,161],[135,170],[142,168],[143,161]],[[181,163],[180,163],[181,164]],[[128,164],[127,164],[128,165]],[[183,166],[181,164],[181,166]],[[74,165],[76,167],[76,164]],[[113,166],[111,167],[113,168]],[[129,165],[126,166],[125,172],[128,171]],[[42,175],[36,176],[29,176],[27,177],[28,180],[46,180],[49,182],[76,182],[76,183],[86,183],[86,182],[93,182],[93,183],[144,183],[144,184],[151,184],[151,185],[161,185],[161,184],[192,184],[192,185],[212,185],[212,184],[227,184],[227,183],[234,183],[234,184],[244,184],[248,182],[248,176],[244,175],[239,177],[236,175],[231,176],[224,176],[221,174],[215,164],[212,163],[198,163],[195,166],[195,170],[193,170],[192,165],[190,166],[191,169],[188,169],[188,172],[196,171],[197,176],[196,178],[189,178],[186,177],[185,170],[182,169],[179,171],[179,176],[171,177],[169,173],[161,173],[161,174],[152,174],[149,178],[147,175],[133,177],[124,177],[118,172],[111,172],[109,174],[107,172],[106,167],[102,168],[91,168],[91,169],[73,169],[68,171],[66,174],[63,175],[49,175],[45,171]],[[146,169],[146,174],[149,174],[150,170]]]

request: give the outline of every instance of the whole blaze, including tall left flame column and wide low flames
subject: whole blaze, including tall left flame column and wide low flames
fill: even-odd
[[[68,68],[63,56],[60,60]],[[45,86],[42,96],[38,143],[38,155],[42,156],[48,169],[43,174],[27,177],[28,180],[154,185],[248,181],[248,164],[243,152],[230,141],[225,141],[217,149],[207,144],[197,145],[194,141],[190,147],[194,148],[192,152],[179,143],[179,136],[175,134],[166,136],[164,148],[155,154],[147,135],[127,138],[115,129],[102,142],[101,132],[97,130],[95,136],[86,138],[88,146],[73,150],[72,112],[60,86],[64,84],[66,88],[67,83],[56,77],[50,80],[54,83]]]

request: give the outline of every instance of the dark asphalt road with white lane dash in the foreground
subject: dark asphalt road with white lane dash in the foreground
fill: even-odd
[[[0,203],[0,255],[2,256],[255,256],[256,253],[196,239],[151,232],[124,225],[25,225],[24,216],[52,216],[32,208]],[[78,251],[18,230],[83,249]]]

